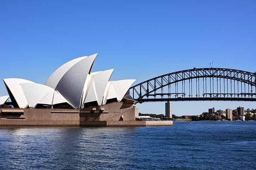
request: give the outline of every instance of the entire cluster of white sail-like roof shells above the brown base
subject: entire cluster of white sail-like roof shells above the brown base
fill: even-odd
[[[90,102],[102,106],[109,99],[121,101],[135,80],[109,81],[114,69],[91,73],[96,57],[97,53],[63,64],[45,85],[24,79],[4,79],[13,105],[34,108],[37,104],[68,103],[74,108],[82,108]]]

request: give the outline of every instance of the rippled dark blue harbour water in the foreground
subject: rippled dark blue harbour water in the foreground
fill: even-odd
[[[256,121],[0,127],[4,169],[256,169]]]

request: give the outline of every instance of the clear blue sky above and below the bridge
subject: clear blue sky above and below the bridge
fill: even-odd
[[[256,71],[255,0],[0,0],[0,79],[44,84],[59,66],[98,53],[111,80],[196,68]],[[7,95],[0,83],[0,96]],[[137,104],[164,114],[164,102]],[[256,102],[173,102],[173,113],[256,108]]]

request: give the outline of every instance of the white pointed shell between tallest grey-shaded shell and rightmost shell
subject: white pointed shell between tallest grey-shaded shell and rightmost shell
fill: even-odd
[[[106,103],[108,92],[108,81],[114,69],[105,70],[102,72],[91,73],[91,83],[85,99],[85,103],[97,101],[98,105]]]

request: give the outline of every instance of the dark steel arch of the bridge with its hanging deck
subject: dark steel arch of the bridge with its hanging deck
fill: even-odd
[[[256,101],[256,73],[227,68],[194,68],[130,87],[138,102]]]

